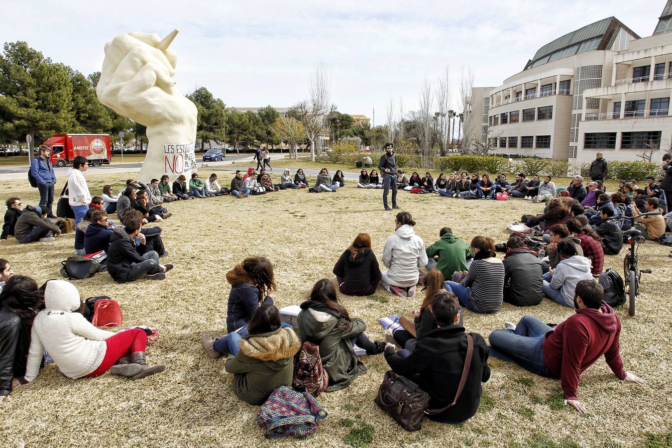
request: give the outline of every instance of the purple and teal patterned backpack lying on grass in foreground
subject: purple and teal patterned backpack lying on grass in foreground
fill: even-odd
[[[288,386],[273,391],[257,413],[257,424],[267,439],[293,435],[306,437],[317,431],[317,422],[327,416],[308,392]]]

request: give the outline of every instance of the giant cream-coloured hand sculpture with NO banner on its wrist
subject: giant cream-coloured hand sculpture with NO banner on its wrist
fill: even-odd
[[[196,105],[179,93],[175,75],[177,54],[156,34],[128,33],[105,45],[105,60],[96,93],[117,114],[147,127],[147,155],[138,179],[149,182],[161,175],[196,170]]]

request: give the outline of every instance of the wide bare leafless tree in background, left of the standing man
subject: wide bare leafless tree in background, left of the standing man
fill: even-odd
[[[322,145],[317,144],[321,136],[329,130],[329,116],[336,110],[331,103],[331,77],[327,65],[320,62],[308,78],[308,99],[294,106],[298,120],[304,127],[310,141],[310,161],[315,161],[315,153],[322,153]],[[316,146],[317,145],[317,146]]]

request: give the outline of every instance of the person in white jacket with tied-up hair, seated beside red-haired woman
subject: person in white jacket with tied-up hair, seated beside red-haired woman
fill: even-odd
[[[419,268],[427,265],[425,242],[413,232],[413,226],[409,212],[396,214],[394,235],[388,236],[382,253],[388,271],[382,273],[380,284],[400,297],[415,296]]]

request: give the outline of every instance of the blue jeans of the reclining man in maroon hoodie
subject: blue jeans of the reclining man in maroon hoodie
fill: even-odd
[[[495,330],[488,340],[493,349],[511,357],[517,365],[537,375],[551,377],[542,351],[544,334],[550,329],[534,316],[523,316],[515,330]]]

